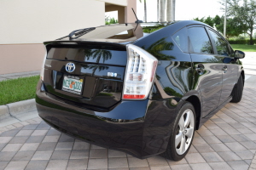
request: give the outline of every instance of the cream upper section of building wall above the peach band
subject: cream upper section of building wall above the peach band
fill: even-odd
[[[94,0],[1,0],[0,44],[42,43],[104,25],[105,3]]]

